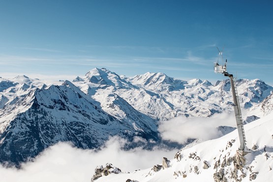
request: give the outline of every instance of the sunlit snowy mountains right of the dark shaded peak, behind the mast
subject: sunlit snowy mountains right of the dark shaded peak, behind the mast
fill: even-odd
[[[210,117],[233,109],[229,80],[217,81],[212,85],[207,80],[182,81],[163,73],[149,72],[133,78],[121,78],[105,68],[95,68],[84,78],[78,77],[75,81],[77,87],[100,103],[103,102],[100,96],[102,91],[108,95],[115,93],[134,109],[156,120],[168,120],[182,115]],[[244,109],[257,105],[273,91],[271,86],[258,79],[240,79],[237,81],[237,89]]]

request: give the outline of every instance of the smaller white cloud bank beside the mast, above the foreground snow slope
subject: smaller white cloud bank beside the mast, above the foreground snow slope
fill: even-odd
[[[222,136],[216,129],[221,125],[235,127],[234,115],[214,114],[210,118],[177,117],[161,121],[158,130],[164,140],[185,144],[187,139],[210,140]]]

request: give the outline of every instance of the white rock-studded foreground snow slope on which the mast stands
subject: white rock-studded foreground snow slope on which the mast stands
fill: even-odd
[[[221,138],[179,151],[177,157],[170,160],[169,167],[162,167],[158,172],[154,172],[151,166],[133,173],[102,176],[95,182],[126,182],[128,179],[134,182],[214,182],[215,174],[221,178],[220,181],[227,182],[272,182],[273,113],[246,124],[244,128],[246,146],[250,150],[245,155],[245,165],[238,170],[231,159],[240,145],[238,131],[235,130]],[[254,145],[257,149],[252,150]],[[204,161],[208,164],[208,169],[204,168]],[[158,164],[161,162],[158,161]],[[220,171],[223,171],[222,175]]]

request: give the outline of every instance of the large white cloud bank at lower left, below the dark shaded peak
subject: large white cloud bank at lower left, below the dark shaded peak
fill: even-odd
[[[136,139],[139,140],[139,139]],[[162,163],[162,157],[173,158],[175,151],[154,148],[152,151],[135,148],[121,150],[127,141],[110,138],[100,151],[81,150],[68,143],[59,143],[37,156],[22,169],[0,166],[1,182],[90,182],[97,165],[112,163],[122,172],[152,168]]]

